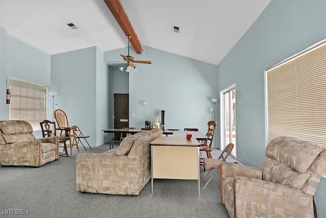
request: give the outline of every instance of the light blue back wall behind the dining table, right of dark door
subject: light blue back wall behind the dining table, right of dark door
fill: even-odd
[[[207,122],[213,117],[210,99],[218,95],[217,66],[142,47],[145,53],[130,51],[130,55],[152,64],[137,64],[138,71],[129,72],[129,126],[145,127],[145,120],[153,123],[155,116],[160,122],[161,110],[165,110],[165,128],[193,127],[206,133]],[[104,52],[104,60],[120,60],[119,54],[126,52],[126,48]],[[125,74],[119,71],[115,73]],[[140,101],[147,105],[140,105]]]

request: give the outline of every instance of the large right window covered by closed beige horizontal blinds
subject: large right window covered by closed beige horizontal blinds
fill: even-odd
[[[289,135],[326,146],[326,40],[270,67],[266,78],[268,141]]]

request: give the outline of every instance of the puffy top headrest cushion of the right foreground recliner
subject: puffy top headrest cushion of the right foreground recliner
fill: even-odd
[[[323,149],[316,142],[280,136],[268,143],[265,155],[302,174]]]

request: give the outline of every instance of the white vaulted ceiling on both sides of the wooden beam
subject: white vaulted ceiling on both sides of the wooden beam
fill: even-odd
[[[218,65],[270,0],[120,0],[142,45]],[[78,28],[70,29],[73,22]],[[173,26],[180,33],[173,32]],[[0,27],[47,54],[128,41],[102,0],[0,0]]]

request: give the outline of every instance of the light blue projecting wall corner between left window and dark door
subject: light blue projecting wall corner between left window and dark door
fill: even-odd
[[[51,56],[49,89],[58,91],[55,104],[67,113],[70,126],[76,125],[91,136],[91,146],[108,141],[101,130],[109,128],[112,119],[109,71],[96,46]]]

